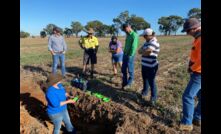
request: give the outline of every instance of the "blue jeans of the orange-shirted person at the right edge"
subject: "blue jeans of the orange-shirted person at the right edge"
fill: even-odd
[[[194,97],[198,97],[198,104],[194,110]],[[192,73],[190,81],[183,93],[182,124],[191,125],[192,120],[201,120],[201,74]]]

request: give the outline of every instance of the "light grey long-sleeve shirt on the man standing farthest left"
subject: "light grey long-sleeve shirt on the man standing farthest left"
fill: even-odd
[[[51,35],[48,39],[48,50],[54,52],[67,51],[67,44],[63,36]]]

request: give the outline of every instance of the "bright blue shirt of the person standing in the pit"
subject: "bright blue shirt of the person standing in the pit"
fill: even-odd
[[[58,84],[59,89],[50,86],[46,92],[46,100],[48,102],[47,105],[47,113],[49,115],[59,113],[65,109],[67,109],[67,104],[60,106],[62,101],[66,101],[65,89],[62,84]]]

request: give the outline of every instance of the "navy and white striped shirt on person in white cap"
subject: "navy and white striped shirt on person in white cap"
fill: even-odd
[[[160,44],[157,42],[156,37],[143,44],[142,46],[143,50],[146,50],[148,48],[152,49],[153,51],[150,53],[149,56],[142,55],[141,64],[142,66],[152,68],[158,64],[157,56],[158,53],[160,52]]]

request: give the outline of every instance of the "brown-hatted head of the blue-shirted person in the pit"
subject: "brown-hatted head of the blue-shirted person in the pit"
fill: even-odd
[[[53,86],[53,85],[56,85],[58,83],[60,83],[62,81],[63,77],[62,75],[60,74],[50,74],[47,78],[47,84],[48,84],[48,87],[49,86]]]

